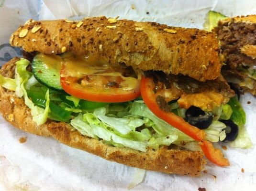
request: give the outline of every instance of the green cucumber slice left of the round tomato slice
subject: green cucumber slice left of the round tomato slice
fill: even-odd
[[[60,70],[62,58],[57,55],[37,54],[32,61],[32,72],[41,84],[50,89],[62,91]]]

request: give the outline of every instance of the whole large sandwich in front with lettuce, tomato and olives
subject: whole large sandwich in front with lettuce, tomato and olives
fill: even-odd
[[[23,58],[0,69],[0,111],[14,127],[190,176],[200,175],[204,156],[229,165],[212,143],[251,144],[213,32],[102,16],[29,20],[10,43]]]

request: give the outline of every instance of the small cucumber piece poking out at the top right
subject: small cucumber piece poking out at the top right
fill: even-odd
[[[205,31],[211,31],[214,27],[218,26],[218,22],[220,20],[223,20],[225,18],[227,17],[219,12],[209,11],[203,23],[203,29]]]

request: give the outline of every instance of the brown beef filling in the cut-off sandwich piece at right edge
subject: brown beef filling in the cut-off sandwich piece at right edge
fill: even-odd
[[[215,32],[225,57],[223,76],[256,95],[256,80],[246,72],[249,68],[256,69],[256,23],[219,22]]]

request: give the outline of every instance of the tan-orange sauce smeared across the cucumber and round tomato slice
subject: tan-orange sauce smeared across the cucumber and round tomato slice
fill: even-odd
[[[112,65],[104,62],[103,60],[96,60],[93,56],[77,56],[71,53],[65,53],[62,56],[59,55],[46,55],[40,53],[37,55],[38,59],[42,61],[47,68],[61,70],[62,66],[65,66],[65,72],[61,74],[61,77],[78,77],[84,78],[85,76],[106,76],[108,79],[122,78],[119,84],[123,91],[133,90],[138,87],[138,79],[135,77],[124,77],[122,75],[122,68],[120,65]],[[140,77],[141,74],[138,75]]]

